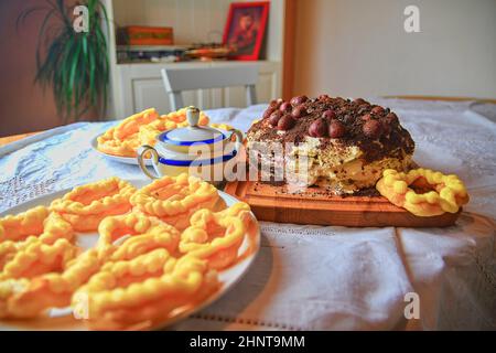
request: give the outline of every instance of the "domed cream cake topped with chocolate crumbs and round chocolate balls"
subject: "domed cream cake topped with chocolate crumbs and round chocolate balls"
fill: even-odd
[[[389,108],[327,95],[272,100],[247,141],[261,181],[326,186],[336,194],[373,188],[385,169],[407,170],[414,150]]]

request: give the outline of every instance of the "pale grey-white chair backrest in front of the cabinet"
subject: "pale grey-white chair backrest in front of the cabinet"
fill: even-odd
[[[247,106],[257,103],[255,85],[258,82],[258,65],[256,64],[223,67],[170,67],[162,68],[161,72],[173,110],[184,106],[182,92],[193,89],[245,86]]]

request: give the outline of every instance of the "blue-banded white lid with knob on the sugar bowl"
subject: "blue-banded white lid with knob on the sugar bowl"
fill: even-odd
[[[200,126],[200,109],[196,107],[187,107],[186,119],[188,127],[177,128],[161,133],[158,139],[169,148],[188,147],[195,143],[214,145],[222,142],[228,138],[222,131],[208,126]]]

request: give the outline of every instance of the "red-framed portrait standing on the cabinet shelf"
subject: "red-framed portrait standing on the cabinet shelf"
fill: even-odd
[[[229,8],[224,45],[234,60],[258,60],[266,34],[269,2],[234,2]]]

